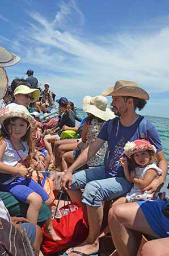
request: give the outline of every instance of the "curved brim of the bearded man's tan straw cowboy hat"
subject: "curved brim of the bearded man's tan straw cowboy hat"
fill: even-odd
[[[102,93],[103,96],[130,96],[141,98],[142,100],[149,100],[149,94],[138,86],[122,86],[121,88],[115,89],[115,86],[108,87]]]

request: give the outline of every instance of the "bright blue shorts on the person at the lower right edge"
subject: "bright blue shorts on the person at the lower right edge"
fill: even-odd
[[[137,201],[149,223],[151,229],[159,238],[169,237],[169,219],[164,216],[162,209],[169,205],[169,201]]]

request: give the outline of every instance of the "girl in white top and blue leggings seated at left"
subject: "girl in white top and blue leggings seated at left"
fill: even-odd
[[[33,169],[26,162],[34,150],[31,131],[35,128],[35,119],[24,106],[9,104],[0,112],[0,124],[0,191],[10,192],[16,199],[28,203],[27,219],[36,224],[42,201],[51,205],[52,199],[31,179]],[[51,220],[46,222],[46,232],[54,240],[60,240]]]

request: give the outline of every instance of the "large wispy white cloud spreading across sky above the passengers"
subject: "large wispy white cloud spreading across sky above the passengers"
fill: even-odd
[[[61,94],[68,90],[71,97],[77,97],[78,92],[79,98],[100,94],[119,79],[137,81],[149,93],[159,93],[159,88],[161,92],[169,90],[167,18],[158,22],[161,26],[151,34],[147,33],[149,22],[145,33],[142,27],[140,34],[109,32],[91,40],[83,31],[84,16],[75,1],[62,1],[59,7],[52,21],[40,13],[29,14],[32,22],[20,31],[19,42],[14,42],[22,63],[43,69],[37,73],[41,82],[49,81]],[[82,33],[74,31],[77,20]]]

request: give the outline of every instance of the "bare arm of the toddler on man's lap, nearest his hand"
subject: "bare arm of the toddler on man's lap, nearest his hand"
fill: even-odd
[[[134,178],[133,182],[140,188],[147,187],[157,177],[157,171],[155,169],[149,169],[143,179]]]

